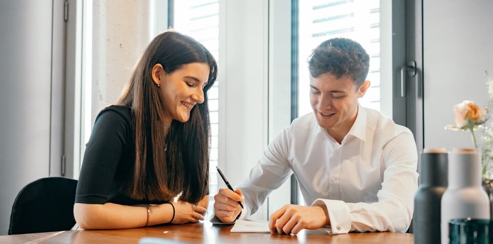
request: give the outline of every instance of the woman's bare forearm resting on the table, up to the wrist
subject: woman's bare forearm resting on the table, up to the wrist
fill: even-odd
[[[149,206],[149,210],[147,226],[170,222],[174,211],[170,204]],[[76,203],[73,214],[82,229],[138,228],[147,222],[147,209],[141,206]]]

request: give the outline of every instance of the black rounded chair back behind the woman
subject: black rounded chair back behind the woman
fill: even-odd
[[[9,235],[70,230],[77,180],[46,177],[21,189],[10,214]]]

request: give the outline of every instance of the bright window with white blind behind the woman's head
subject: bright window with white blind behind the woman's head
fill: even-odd
[[[214,56],[216,62],[219,58],[219,1],[218,0],[176,0],[174,1],[173,28],[184,35],[189,35],[202,43]],[[209,90],[209,112],[211,116],[211,161],[209,190],[217,192],[217,166],[218,156],[218,85]]]

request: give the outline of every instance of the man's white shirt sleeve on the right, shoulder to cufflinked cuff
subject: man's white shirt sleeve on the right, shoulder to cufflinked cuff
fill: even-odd
[[[414,195],[418,189],[418,153],[410,132],[389,140],[383,147],[385,164],[378,202],[345,203],[339,200],[317,199],[312,206],[327,207],[330,234],[351,231],[406,232],[414,210]]]

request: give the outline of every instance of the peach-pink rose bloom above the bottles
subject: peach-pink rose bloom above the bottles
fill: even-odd
[[[459,128],[467,125],[467,118],[474,124],[481,124],[486,119],[486,108],[479,108],[472,101],[463,101],[454,106],[454,119]]]

